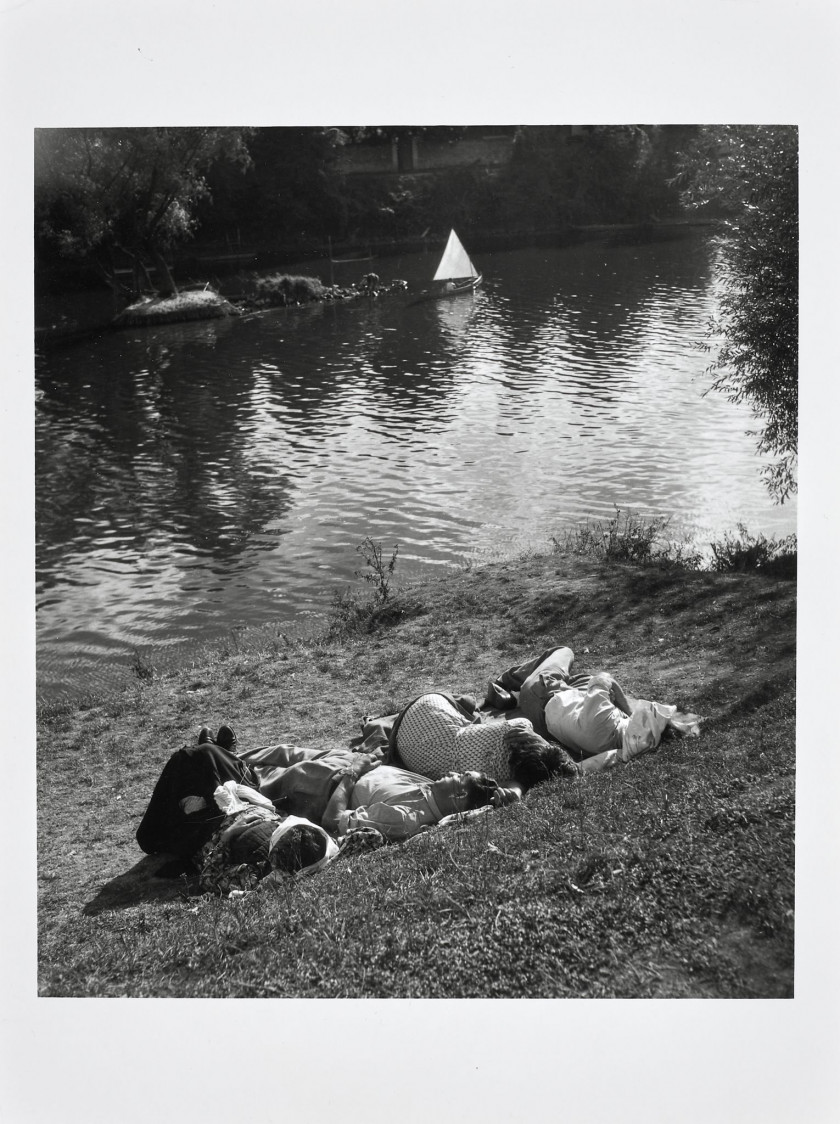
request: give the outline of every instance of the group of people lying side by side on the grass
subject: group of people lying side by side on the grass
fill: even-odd
[[[654,749],[699,719],[629,699],[606,672],[572,676],[553,647],[491,680],[482,706],[431,692],[397,715],[364,718],[346,747],[240,749],[229,726],[172,754],[137,830],[168,872],[238,894],[309,874],[338,854],[412,839],[451,817],[518,800]],[[515,714],[513,711],[516,711]]]

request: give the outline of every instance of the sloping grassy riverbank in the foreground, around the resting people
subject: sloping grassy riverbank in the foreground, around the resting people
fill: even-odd
[[[551,553],[398,592],[372,631],[252,635],[38,722],[39,992],[791,996],[796,583]],[[344,614],[346,622],[347,614]],[[134,840],[171,751],[346,743],[427,689],[484,695],[551,643],[699,738],[227,901]]]

